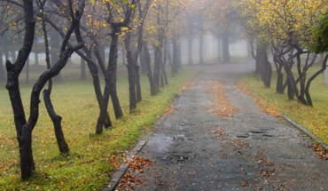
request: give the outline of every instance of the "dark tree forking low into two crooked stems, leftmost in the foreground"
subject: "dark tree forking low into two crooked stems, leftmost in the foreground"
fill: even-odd
[[[71,3],[71,2],[70,2]],[[66,38],[64,39],[61,47],[60,57],[58,62],[53,65],[49,70],[43,72],[39,77],[35,85],[33,86],[31,99],[30,99],[30,114],[28,120],[24,112],[24,107],[20,98],[20,84],[19,76],[22,68],[27,61],[28,55],[32,50],[35,36],[35,12],[34,3],[32,0],[23,1],[20,7],[24,11],[24,25],[25,35],[22,48],[20,49],[17,60],[12,64],[11,61],[7,60],[7,84],[6,88],[9,92],[10,99],[12,102],[12,110],[14,114],[14,121],[17,131],[17,139],[20,147],[20,171],[21,178],[28,179],[32,176],[35,171],[35,163],[32,154],[32,131],[35,128],[35,124],[38,120],[39,115],[39,96],[43,89],[43,86],[53,76],[59,74],[59,71],[65,67],[68,58],[71,54],[82,48],[83,44],[78,44],[74,48],[66,48],[68,39],[72,35],[74,29],[78,27],[82,17],[83,2],[79,7],[79,11],[75,12],[70,27],[66,32]],[[72,10],[73,11],[73,10]],[[74,12],[71,12],[72,15]]]

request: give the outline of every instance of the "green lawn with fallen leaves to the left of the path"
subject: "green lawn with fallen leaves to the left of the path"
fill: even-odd
[[[146,77],[142,76],[143,101],[133,114],[129,114],[129,88],[123,70],[121,68],[119,71],[117,87],[124,117],[113,120],[110,105],[113,129],[104,131],[100,136],[94,133],[99,110],[90,79],[54,84],[52,103],[58,115],[63,116],[63,131],[71,155],[59,155],[52,123],[41,101],[39,121],[33,131],[35,177],[24,182],[20,181],[19,149],[12,107],[4,84],[0,84],[1,190],[99,190],[140,136],[151,131],[152,124],[162,115],[175,94],[181,91],[183,84],[197,73],[190,69],[181,70],[178,76],[169,78],[169,84],[160,94],[153,97],[149,95]],[[31,87],[21,85],[27,116]]]

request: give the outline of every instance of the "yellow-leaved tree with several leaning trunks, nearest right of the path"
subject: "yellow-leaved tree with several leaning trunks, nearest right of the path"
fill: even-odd
[[[246,18],[245,16],[251,15],[251,18],[257,21],[257,26],[250,22],[246,22],[246,25],[257,28],[258,36],[270,42],[273,47],[278,75],[277,91],[283,92],[287,86],[289,99],[293,99],[295,95],[302,104],[312,106],[308,92],[309,84],[317,76],[317,72],[324,71],[324,67],[308,78],[308,68],[314,65],[316,56],[312,56],[307,44],[311,42],[310,26],[316,25],[316,18],[326,12],[327,4],[321,0],[248,0],[242,4],[246,9],[255,7],[254,12],[248,12],[243,16]],[[306,55],[306,60],[301,60],[301,55]],[[292,70],[295,65],[296,74]],[[281,68],[285,71],[285,84],[282,83]]]

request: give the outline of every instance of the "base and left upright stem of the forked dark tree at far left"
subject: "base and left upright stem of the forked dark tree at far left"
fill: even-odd
[[[20,147],[20,172],[21,179],[28,179],[35,170],[35,163],[32,155],[32,131],[27,129],[27,123],[23,103],[20,97],[20,72],[26,64],[27,58],[32,50],[35,36],[35,17],[33,1],[23,1],[24,9],[24,26],[25,34],[22,47],[20,49],[18,59],[12,64],[6,61],[7,84],[6,88],[12,103],[13,117],[16,127],[17,139]]]

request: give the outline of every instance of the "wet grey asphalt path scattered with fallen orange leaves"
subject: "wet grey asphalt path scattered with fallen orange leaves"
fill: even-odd
[[[264,114],[235,84],[254,64],[207,66],[176,99],[176,110],[160,118],[138,155],[152,165],[135,173],[134,190],[328,190],[328,161],[289,123]],[[207,112],[213,80],[226,83],[238,112]]]

